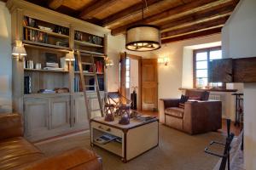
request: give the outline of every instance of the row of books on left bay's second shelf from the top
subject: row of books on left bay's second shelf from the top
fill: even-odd
[[[48,35],[42,31],[36,31],[31,29],[24,29],[24,37],[26,40],[32,41],[32,42],[48,42]]]

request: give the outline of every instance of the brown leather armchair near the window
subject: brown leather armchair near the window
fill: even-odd
[[[189,90],[185,95],[192,99],[179,106],[180,99],[160,99],[160,122],[185,133],[207,133],[222,126],[221,101],[207,100],[205,91]]]

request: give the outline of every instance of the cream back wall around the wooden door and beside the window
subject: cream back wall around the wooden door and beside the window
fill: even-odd
[[[219,42],[221,35],[216,34],[207,37],[194,38],[182,42],[171,42],[163,44],[158,50],[152,52],[132,52],[125,50],[125,37],[109,36],[108,38],[108,56],[114,59],[114,67],[108,71],[108,90],[117,89],[119,87],[119,52],[127,52],[128,54],[136,54],[143,58],[159,58],[169,57],[170,65],[159,65],[159,99],[162,98],[179,98],[181,91],[178,88],[192,87],[193,71],[192,71],[192,48],[186,51],[186,47],[199,45],[209,42]]]

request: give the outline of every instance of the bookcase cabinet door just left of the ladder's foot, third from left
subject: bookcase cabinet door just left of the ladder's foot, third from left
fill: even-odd
[[[74,99],[74,122],[76,127],[83,127],[89,129],[89,121],[84,105],[84,96],[79,96]]]

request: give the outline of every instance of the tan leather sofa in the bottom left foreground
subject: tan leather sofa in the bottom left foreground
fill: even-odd
[[[23,137],[19,114],[0,114],[0,169],[101,170],[102,159],[91,150],[67,150],[46,157]]]

